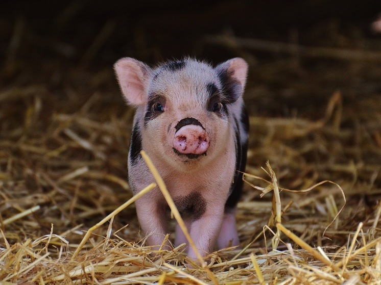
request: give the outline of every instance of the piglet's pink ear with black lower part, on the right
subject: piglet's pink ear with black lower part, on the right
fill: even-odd
[[[233,103],[244,93],[248,64],[242,58],[233,58],[216,66],[227,103]]]

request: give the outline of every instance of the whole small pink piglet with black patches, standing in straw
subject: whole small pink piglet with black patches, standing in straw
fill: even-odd
[[[136,107],[129,183],[136,194],[154,178],[140,156],[145,150],[182,214],[202,254],[239,245],[235,207],[242,191],[248,119],[242,94],[247,64],[234,58],[213,68],[193,59],[150,68],[131,58],[115,63],[127,102]],[[168,233],[168,205],[159,189],[136,201],[151,246]],[[175,245],[186,242],[179,227]],[[188,255],[196,258],[189,248]]]

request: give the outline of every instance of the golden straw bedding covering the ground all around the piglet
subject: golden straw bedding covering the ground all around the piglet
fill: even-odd
[[[53,31],[70,30],[69,12],[81,7],[54,16]],[[223,50],[221,57],[251,65],[246,184],[236,213],[242,249],[212,252],[200,264],[187,259],[185,244],[151,254],[133,203],[113,212],[132,198],[134,111],[114,79],[111,62],[119,55],[107,45],[116,41],[118,19],[91,26],[97,32],[82,46],[41,36],[28,17],[8,20],[0,31],[7,39],[0,70],[2,284],[381,284],[379,38],[353,26],[340,36],[326,22],[308,30],[317,38],[334,31],[320,49],[319,42],[263,42],[229,29],[199,38],[194,54]],[[143,24],[134,33],[129,56],[150,61],[168,52],[147,46]]]

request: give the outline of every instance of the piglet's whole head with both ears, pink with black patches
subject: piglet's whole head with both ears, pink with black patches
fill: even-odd
[[[150,68],[131,58],[115,63],[127,102],[137,107],[143,149],[174,167],[218,156],[231,136],[229,105],[242,96],[247,64],[236,58],[216,68],[192,59]]]

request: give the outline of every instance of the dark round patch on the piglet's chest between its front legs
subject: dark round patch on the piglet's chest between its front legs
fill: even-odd
[[[198,220],[206,211],[206,200],[198,192],[174,199],[177,210],[186,217]]]

